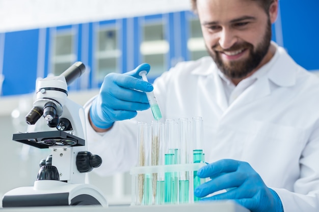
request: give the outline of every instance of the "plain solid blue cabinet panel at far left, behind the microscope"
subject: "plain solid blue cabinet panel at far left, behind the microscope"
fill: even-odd
[[[3,96],[35,91],[39,29],[6,33]]]

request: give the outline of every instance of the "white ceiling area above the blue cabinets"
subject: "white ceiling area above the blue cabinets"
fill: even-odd
[[[0,33],[190,8],[190,0],[0,0]]]

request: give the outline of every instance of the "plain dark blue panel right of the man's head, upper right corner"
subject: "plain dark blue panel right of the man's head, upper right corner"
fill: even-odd
[[[319,70],[319,1],[280,0],[283,44],[307,70]]]

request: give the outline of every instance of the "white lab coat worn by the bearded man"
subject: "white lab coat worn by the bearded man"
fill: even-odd
[[[319,211],[319,79],[281,47],[262,69],[265,74],[228,106],[210,57],[179,63],[154,82],[162,120],[203,117],[207,162],[246,161],[277,192],[285,212]],[[136,121],[151,119],[146,110],[103,134],[88,124],[89,150],[103,159],[95,171],[106,175],[134,166]]]

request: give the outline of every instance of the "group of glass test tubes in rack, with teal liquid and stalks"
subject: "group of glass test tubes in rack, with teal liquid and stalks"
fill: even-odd
[[[193,203],[205,165],[201,117],[138,123],[137,166],[131,169],[132,205]]]

